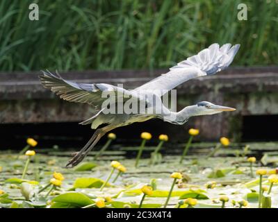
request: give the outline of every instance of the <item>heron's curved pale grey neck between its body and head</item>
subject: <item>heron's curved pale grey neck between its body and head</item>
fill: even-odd
[[[179,112],[170,112],[170,114],[164,116],[163,119],[171,123],[183,124],[188,120],[189,117],[197,115],[199,115],[199,113],[197,112],[196,105],[190,105],[186,108],[183,108]]]

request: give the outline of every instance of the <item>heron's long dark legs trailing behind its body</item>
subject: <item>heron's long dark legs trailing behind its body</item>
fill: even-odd
[[[79,162],[81,162],[84,159],[84,157],[88,155],[90,150],[95,146],[95,144],[97,144],[97,142],[99,142],[99,139],[101,139],[101,137],[105,135],[106,132],[107,131],[101,129],[96,130],[94,135],[92,135],[91,139],[88,141],[88,143],[85,144],[85,146],[81,149],[81,151],[79,151],[78,153],[76,153],[76,155],[74,155],[72,160],[70,160],[67,163],[66,167],[74,167],[77,164],[79,164]]]

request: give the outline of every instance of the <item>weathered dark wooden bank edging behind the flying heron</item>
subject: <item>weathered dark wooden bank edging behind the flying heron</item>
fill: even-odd
[[[126,89],[133,89],[166,71],[155,70],[152,74],[132,70],[70,71],[61,76],[80,83],[123,84]],[[39,74],[39,71],[0,73],[1,123],[82,121],[92,115],[89,105],[60,100],[44,89],[38,80]],[[215,76],[183,83],[177,87],[177,94],[178,109],[197,101],[211,101],[237,108],[236,112],[229,114],[193,118],[189,125],[202,128],[202,136],[206,139],[231,135],[235,126],[240,131],[242,115],[278,114],[278,67],[227,69]],[[232,126],[233,121],[238,123]],[[188,128],[188,125],[184,128]]]

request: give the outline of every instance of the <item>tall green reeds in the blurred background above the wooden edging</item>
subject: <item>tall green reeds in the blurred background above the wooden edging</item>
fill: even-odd
[[[39,21],[28,19],[33,2]],[[152,70],[213,42],[241,44],[234,65],[277,65],[278,1],[0,1],[1,71]]]

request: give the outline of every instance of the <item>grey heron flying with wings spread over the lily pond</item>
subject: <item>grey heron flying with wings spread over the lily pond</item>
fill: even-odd
[[[108,131],[111,131],[120,126],[126,126],[135,122],[147,121],[149,119],[159,118],[174,124],[183,124],[188,121],[188,118],[199,115],[217,114],[223,111],[233,111],[234,108],[229,108],[222,105],[202,101],[195,105],[190,105],[179,112],[172,112],[166,108],[161,101],[161,97],[166,92],[174,89],[181,83],[197,78],[200,76],[210,76],[218,71],[226,69],[234,60],[234,56],[238,52],[240,45],[236,44],[211,44],[207,49],[203,49],[197,55],[191,56],[182,62],[179,62],[174,67],[170,68],[166,74],[162,74],[157,78],[137,87],[136,89],[127,90],[122,87],[109,85],[106,83],[74,83],[69,80],[64,80],[59,74],[51,74],[49,71],[43,72],[40,76],[41,83],[47,89],[51,89],[60,96],[61,99],[76,103],[88,103],[95,107],[95,113],[90,119],[87,119],[80,124],[91,124],[91,128],[95,130],[87,144],[74,155],[72,160],[67,163],[66,167],[74,167],[81,162],[86,155],[97,144],[99,139]],[[108,113],[107,110],[111,106],[116,107],[120,103],[115,101],[108,106],[103,105],[107,97],[101,96],[104,93],[113,93],[114,97],[122,96],[122,103],[127,103],[130,97],[136,98],[140,103],[145,104],[147,110],[154,111],[158,106],[161,112],[142,112],[138,113]],[[125,95],[125,96],[124,96]],[[127,96],[126,96],[127,95]],[[155,98],[155,99],[149,99]]]

